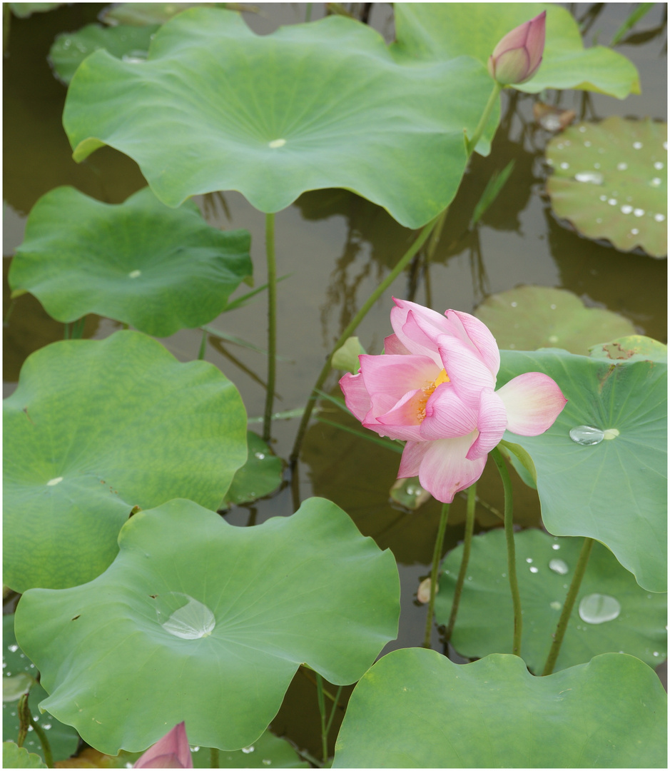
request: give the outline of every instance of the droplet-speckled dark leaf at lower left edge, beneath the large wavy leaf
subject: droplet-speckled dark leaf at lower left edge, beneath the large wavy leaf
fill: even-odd
[[[14,614],[7,614],[2,617],[2,682],[3,685],[11,680],[15,675],[22,675],[30,678],[32,687],[28,697],[28,706],[33,719],[39,722],[49,739],[52,756],[54,760],[63,760],[69,758],[73,752],[76,752],[79,744],[79,734],[72,726],[66,726],[48,712],[39,712],[39,702],[46,699],[47,693],[41,685],[35,684],[37,677],[35,665],[26,657],[25,653],[16,644],[14,635]],[[4,689],[3,689],[4,692]],[[19,737],[19,696],[15,700],[2,703],[2,736],[4,739],[18,739]],[[25,737],[25,749],[44,759],[42,742],[35,731],[29,731]],[[4,768],[12,768],[5,762]]]

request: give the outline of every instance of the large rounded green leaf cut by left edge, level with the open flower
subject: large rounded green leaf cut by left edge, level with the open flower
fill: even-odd
[[[135,506],[188,496],[217,509],[247,456],[246,421],[218,369],[140,332],[30,355],[4,402],[5,584],[90,581]]]

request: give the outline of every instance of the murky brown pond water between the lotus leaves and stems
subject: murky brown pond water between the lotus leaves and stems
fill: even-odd
[[[6,274],[14,248],[21,243],[25,217],[40,196],[58,185],[72,185],[83,193],[120,203],[146,184],[132,160],[109,148],[96,151],[86,162],[72,161],[62,130],[61,116],[66,87],[58,82],[46,60],[49,46],[59,32],[75,31],[96,20],[104,5],[77,4],[29,19],[12,19],[5,52],[5,310],[8,299]],[[587,45],[608,42],[631,10],[630,4],[570,5],[578,19],[590,20]],[[559,104],[575,109],[577,117],[599,120],[607,116],[645,117],[666,120],[665,8],[655,5],[639,25],[641,31],[618,50],[638,66],[642,93],[618,101],[598,94],[565,92]],[[314,4],[311,18],[324,14]],[[258,13],[244,19],[258,34],[279,24],[305,19],[305,5],[278,3],[258,5]],[[390,6],[374,4],[369,22],[386,39],[393,35]],[[553,93],[552,93],[553,98]],[[519,284],[565,288],[586,305],[608,308],[628,318],[639,333],[667,342],[666,261],[645,254],[623,254],[608,244],[581,238],[551,214],[543,194],[547,167],[544,147],[551,135],[533,121],[533,96],[503,95],[503,120],[490,157],[474,157],[463,185],[449,209],[441,241],[429,268],[403,274],[382,296],[359,327],[362,345],[381,352],[391,332],[389,311],[392,295],[413,299],[436,310],[458,308],[471,312],[488,295]],[[468,222],[480,194],[493,173],[510,160],[515,167],[503,194],[476,229]],[[207,221],[226,229],[251,231],[254,281],[265,281],[264,214],[254,210],[240,194],[224,192],[198,197]],[[287,275],[278,286],[278,399],[275,409],[301,408],[311,392],[325,356],[342,329],[370,292],[406,251],[413,231],[401,227],[385,210],[345,190],[317,190],[301,196],[276,217],[278,274]],[[264,295],[212,325],[265,348],[266,305]],[[120,325],[109,319],[89,317],[85,336],[104,338]],[[30,296],[12,309],[4,329],[4,390],[12,392],[22,362],[30,352],[62,339],[63,328],[50,319]],[[201,332],[187,330],[162,342],[181,361],[197,357]],[[266,376],[264,356],[249,348],[222,344],[209,337],[205,358],[217,365],[243,395],[249,416],[261,416]],[[333,372],[325,390],[338,392]],[[332,409],[333,419],[342,415]],[[274,452],[288,458],[297,420],[277,421],[273,426]],[[251,426],[261,432],[260,425]],[[420,645],[426,608],[416,602],[419,582],[429,573],[429,561],[439,519],[439,504],[426,503],[410,513],[389,502],[398,456],[361,439],[312,421],[298,465],[301,500],[312,495],[338,503],[364,535],[389,547],[399,564],[402,583],[402,616],[393,648]],[[492,464],[490,464],[492,465]],[[484,473],[477,490],[476,530],[498,526],[496,511],[503,510],[503,493],[497,472]],[[534,491],[514,479],[515,520],[522,526],[540,524]],[[253,505],[232,507],[225,515],[231,524],[258,524],[294,510],[288,471],[284,487]],[[463,533],[465,500],[457,497],[450,512],[446,548],[455,546]],[[433,647],[442,649],[439,633]],[[284,707],[273,727],[286,733],[313,754],[319,751],[318,712],[314,685],[309,675],[298,672]],[[337,735],[338,721],[332,729]]]

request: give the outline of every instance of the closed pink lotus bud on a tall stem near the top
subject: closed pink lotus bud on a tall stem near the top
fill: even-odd
[[[503,37],[489,57],[489,72],[500,86],[525,83],[537,72],[544,52],[546,11],[515,27]]]

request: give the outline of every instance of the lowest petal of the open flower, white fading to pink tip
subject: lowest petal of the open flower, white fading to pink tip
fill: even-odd
[[[460,490],[470,487],[482,475],[486,456],[467,460],[466,453],[475,433],[457,439],[438,439],[425,442],[423,459],[419,466],[419,482],[429,493],[443,503],[451,503]],[[412,475],[414,476],[414,475]]]

